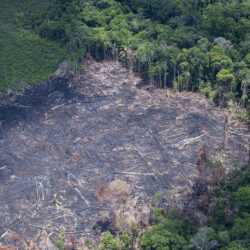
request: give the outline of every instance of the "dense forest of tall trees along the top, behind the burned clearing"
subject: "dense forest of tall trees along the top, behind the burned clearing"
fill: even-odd
[[[248,0],[38,2],[12,0],[12,21],[66,49],[75,70],[88,54],[120,59],[157,87],[250,109]]]

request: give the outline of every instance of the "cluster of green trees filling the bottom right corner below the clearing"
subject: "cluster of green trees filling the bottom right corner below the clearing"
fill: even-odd
[[[240,171],[234,160],[232,164],[237,171],[216,190],[208,227],[195,231],[188,218],[181,218],[178,209],[164,212],[154,207],[155,224],[142,233],[142,249],[248,249],[250,170]]]

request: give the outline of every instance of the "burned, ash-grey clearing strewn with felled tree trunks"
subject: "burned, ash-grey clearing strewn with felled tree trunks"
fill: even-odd
[[[232,158],[247,163],[248,128],[225,110],[137,85],[120,64],[92,62],[84,75],[0,99],[2,243],[147,225],[156,192],[166,205],[185,203],[204,147],[227,170]]]

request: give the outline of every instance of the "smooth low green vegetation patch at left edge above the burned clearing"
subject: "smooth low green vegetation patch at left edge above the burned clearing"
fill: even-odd
[[[57,44],[10,24],[0,25],[0,92],[48,78],[67,58]]]

